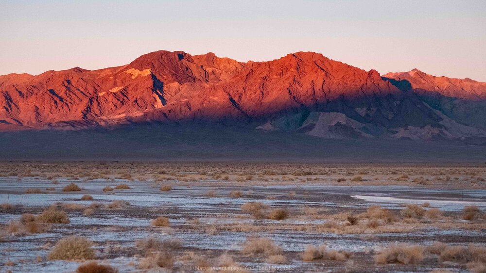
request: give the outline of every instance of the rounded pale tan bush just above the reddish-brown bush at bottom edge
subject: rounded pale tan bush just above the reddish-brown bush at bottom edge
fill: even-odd
[[[80,236],[59,240],[47,256],[50,260],[87,260],[95,257],[93,242]]]

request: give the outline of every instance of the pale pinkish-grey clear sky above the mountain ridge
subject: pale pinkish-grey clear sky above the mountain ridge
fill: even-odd
[[[128,64],[156,50],[486,81],[485,0],[0,0],[0,75]]]

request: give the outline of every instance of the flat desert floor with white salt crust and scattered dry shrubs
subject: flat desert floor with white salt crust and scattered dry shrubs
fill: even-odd
[[[484,165],[0,162],[1,272],[486,272]]]

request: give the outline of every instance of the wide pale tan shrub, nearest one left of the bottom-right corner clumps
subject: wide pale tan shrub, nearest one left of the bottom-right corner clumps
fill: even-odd
[[[394,244],[375,256],[377,264],[416,264],[424,259],[424,247],[410,244]]]

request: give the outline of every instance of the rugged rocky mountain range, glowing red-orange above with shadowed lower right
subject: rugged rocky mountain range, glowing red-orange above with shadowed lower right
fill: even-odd
[[[0,76],[0,130],[142,123],[238,126],[337,139],[483,144],[486,83],[388,73],[297,52],[241,63],[156,51],[100,70]]]

